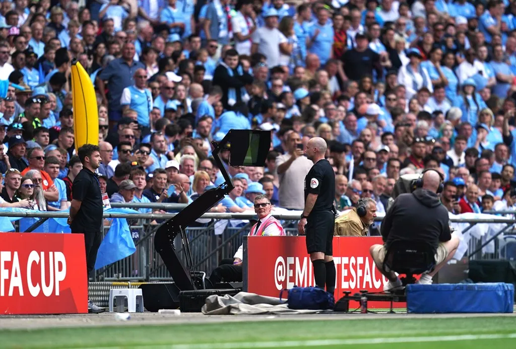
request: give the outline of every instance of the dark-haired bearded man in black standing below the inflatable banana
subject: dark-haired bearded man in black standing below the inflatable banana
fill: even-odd
[[[72,233],[84,234],[86,245],[86,266],[89,281],[91,271],[95,268],[96,254],[102,241],[102,192],[95,170],[101,164],[98,145],[85,144],[78,151],[83,169],[77,174],[72,185],[72,205],[68,224]],[[103,312],[88,300],[88,312]]]

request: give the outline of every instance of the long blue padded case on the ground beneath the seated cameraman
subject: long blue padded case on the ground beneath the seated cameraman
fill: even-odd
[[[514,285],[407,285],[409,313],[512,313]]]

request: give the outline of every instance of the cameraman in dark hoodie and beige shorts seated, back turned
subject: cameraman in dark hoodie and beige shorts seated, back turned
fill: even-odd
[[[400,194],[383,219],[381,234],[384,244],[371,246],[369,252],[380,273],[389,279],[383,287],[384,291],[402,285],[394,271],[383,270],[385,253],[391,243],[413,241],[432,246],[436,267],[430,273],[421,274],[419,284],[431,284],[432,277],[454,256],[459,246],[459,239],[451,236],[448,211],[441,205],[437,195],[441,176],[436,170],[424,172],[422,188],[410,194]]]

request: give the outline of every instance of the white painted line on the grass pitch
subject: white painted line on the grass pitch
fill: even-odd
[[[278,341],[278,342],[227,342],[227,343],[203,343],[203,344],[157,344],[135,345],[124,348],[138,349],[260,349],[260,348],[288,348],[288,347],[315,347],[329,345],[363,345],[385,343],[420,343],[420,342],[458,342],[486,339],[516,339],[516,333],[493,335],[458,335],[458,336],[421,336],[421,337],[385,337],[362,339],[328,339],[307,341]],[[109,346],[97,349],[114,349],[117,346]]]

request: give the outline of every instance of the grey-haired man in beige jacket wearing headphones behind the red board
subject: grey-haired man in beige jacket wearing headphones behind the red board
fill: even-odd
[[[349,212],[335,220],[336,236],[366,236],[369,225],[376,217],[376,202],[370,197],[361,198]]]

